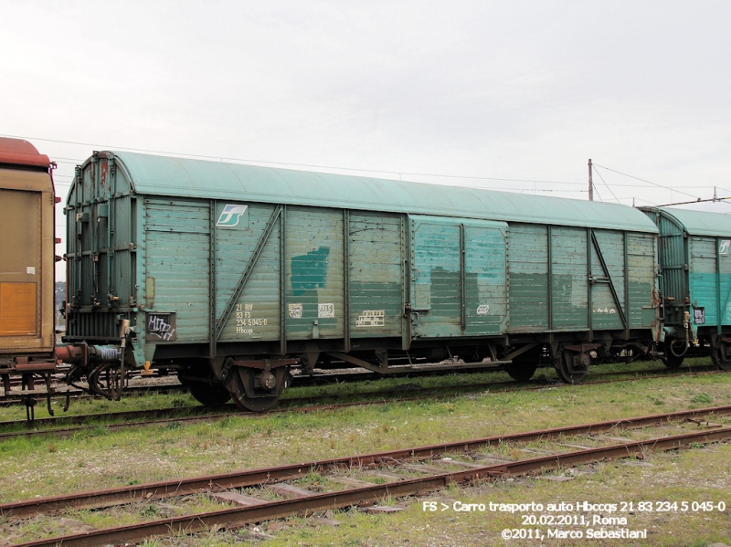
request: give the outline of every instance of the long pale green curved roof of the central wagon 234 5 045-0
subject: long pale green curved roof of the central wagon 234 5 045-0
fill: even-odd
[[[141,153],[114,152],[113,155],[115,162],[122,163],[129,173],[132,188],[140,195],[657,232],[647,216],[627,205]]]

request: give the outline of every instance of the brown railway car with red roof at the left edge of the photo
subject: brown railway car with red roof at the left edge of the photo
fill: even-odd
[[[0,377],[56,365],[53,164],[30,142],[0,138]]]

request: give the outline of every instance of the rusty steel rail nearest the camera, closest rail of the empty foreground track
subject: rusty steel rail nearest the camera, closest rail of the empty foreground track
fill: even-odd
[[[373,504],[385,497],[401,498],[423,495],[434,490],[443,489],[453,482],[465,483],[479,479],[496,479],[506,475],[543,473],[559,467],[573,467],[578,464],[603,459],[630,458],[639,453],[643,454],[648,449],[674,450],[692,443],[708,444],[728,439],[731,439],[731,427],[674,437],[653,438],[611,447],[590,448],[556,456],[525,459],[483,468],[471,468],[466,471],[445,472],[421,479],[315,494],[295,500],[262,501],[259,505],[249,507],[210,511],[158,521],[141,522],[119,528],[18,543],[15,547],[94,547],[108,543],[136,542],[151,536],[169,535],[171,533],[196,533],[210,530],[215,526],[238,528],[252,522],[279,519],[292,514],[302,515],[318,510]]]

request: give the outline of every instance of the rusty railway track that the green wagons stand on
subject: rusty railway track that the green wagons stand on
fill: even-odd
[[[408,389],[403,387],[389,388],[375,392],[365,392],[358,394],[325,394],[319,396],[292,397],[282,399],[280,406],[261,413],[250,413],[251,417],[263,417],[271,415],[279,415],[288,412],[309,413],[321,410],[333,410],[336,408],[345,408],[349,406],[359,405],[385,405],[392,402],[411,402],[428,398],[441,396],[455,396],[459,394],[479,393],[485,389],[492,388],[493,391],[512,392],[545,389],[546,386],[571,388],[581,385],[606,384],[611,382],[622,382],[628,380],[628,374],[632,378],[653,377],[657,371],[639,371],[635,373],[616,372],[606,373],[602,377],[605,379],[595,378],[593,382],[583,384],[546,384],[545,382],[534,381],[528,384],[518,384],[514,381],[508,382],[482,382],[474,384],[466,384],[459,386],[440,386],[432,388],[424,388],[418,386],[410,386]],[[689,373],[664,373],[660,371],[662,376],[687,376]],[[693,374],[709,374],[720,373],[717,370],[707,370]],[[405,397],[404,394],[416,394],[418,396]],[[431,395],[429,395],[431,394]],[[435,395],[437,394],[437,395]],[[353,397],[359,400],[352,401]],[[389,397],[389,398],[385,398]],[[221,412],[223,411],[223,412]],[[228,404],[218,408],[207,408],[205,406],[188,406],[188,407],[170,407],[152,410],[134,410],[124,412],[105,413],[99,415],[78,415],[78,416],[55,416],[48,418],[38,418],[32,422],[26,420],[12,420],[0,422],[0,441],[14,437],[44,437],[55,435],[64,437],[79,433],[85,429],[91,429],[97,426],[103,426],[109,430],[122,429],[132,426],[150,426],[165,425],[172,422],[178,423],[196,423],[200,421],[213,421],[228,418],[234,413],[240,413],[236,405]],[[32,427],[32,429],[30,429]]]

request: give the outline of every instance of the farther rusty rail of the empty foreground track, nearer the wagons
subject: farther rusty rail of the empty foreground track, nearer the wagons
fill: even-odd
[[[590,433],[598,434],[616,428],[659,426],[668,422],[688,420],[712,414],[715,416],[731,415],[731,405],[699,408],[652,416],[639,416],[621,420],[609,420],[594,424],[540,429],[527,433],[482,437],[468,441],[457,441],[424,447],[409,447],[361,456],[324,459],[274,468],[250,469],[192,479],[165,480],[115,489],[22,500],[0,504],[0,514],[10,514],[13,518],[26,518],[41,513],[50,513],[65,509],[98,509],[134,501],[160,500],[199,492],[246,488],[267,482],[298,479],[307,475],[311,469],[323,470],[327,468],[365,466],[376,462],[388,462],[405,458],[433,458],[434,456],[452,451],[469,452],[482,447],[495,446],[506,442],[528,442],[560,436],[572,437]]]

